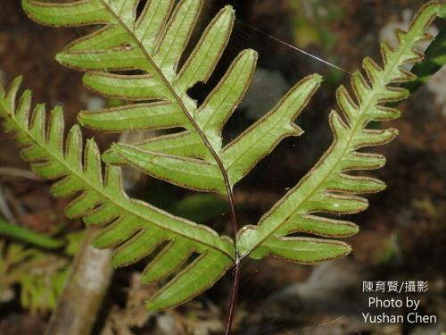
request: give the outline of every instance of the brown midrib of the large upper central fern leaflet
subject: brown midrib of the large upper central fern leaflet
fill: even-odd
[[[151,65],[153,66],[153,69],[156,71],[156,73],[158,74],[158,76],[161,78],[162,82],[164,83],[164,85],[166,85],[167,88],[169,88],[170,93],[172,94],[172,96],[175,97],[175,99],[178,102],[178,105],[180,106],[181,110],[183,111],[183,113],[185,113],[188,121],[191,122],[192,126],[194,127],[194,130],[198,133],[198,135],[200,136],[200,138],[202,138],[202,141],[205,145],[205,147],[207,147],[207,149],[211,152],[212,157],[214,158],[215,162],[218,164],[219,166],[219,170],[221,172],[221,175],[223,177],[223,180],[225,182],[225,187],[227,189],[227,197],[229,202],[231,203],[231,207],[234,207],[234,199],[233,199],[233,195],[232,195],[232,188],[231,185],[229,183],[229,178],[227,176],[227,171],[225,169],[225,166],[223,164],[223,162],[221,161],[219,155],[217,154],[217,152],[215,151],[215,149],[212,147],[211,142],[209,141],[208,138],[206,138],[206,135],[204,135],[203,131],[200,129],[200,127],[198,126],[198,124],[194,121],[194,117],[192,116],[191,113],[189,113],[189,111],[187,110],[186,105],[184,104],[183,100],[181,99],[180,96],[178,96],[177,91],[175,90],[175,88],[173,88],[173,86],[170,84],[169,80],[166,78],[166,76],[164,75],[164,73],[162,73],[160,66],[158,66],[157,63],[154,62],[153,57],[147,52],[147,50],[145,49],[143,43],[136,37],[135,33],[133,32],[132,29],[130,29],[128,27],[128,25],[122,21],[120,19],[119,14],[115,13],[111,7],[109,6],[109,4],[105,3],[103,0],[100,0],[101,4],[103,4],[103,7],[109,12],[111,13],[111,15],[113,15],[113,17],[115,18],[115,20],[118,22],[118,24],[120,24],[120,26],[122,26],[124,29],[126,29],[128,36],[130,38],[132,38],[135,43],[136,46],[138,46],[142,53],[145,55],[145,58],[147,59],[147,61],[149,63],[151,63]],[[233,212],[233,219],[235,220],[235,211],[232,210]]]

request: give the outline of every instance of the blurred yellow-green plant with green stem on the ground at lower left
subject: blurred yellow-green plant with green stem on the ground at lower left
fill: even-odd
[[[0,238],[0,301],[12,299],[13,286],[20,285],[21,306],[31,313],[53,310],[83,231],[66,235],[65,242],[0,220],[0,235],[14,239]]]

